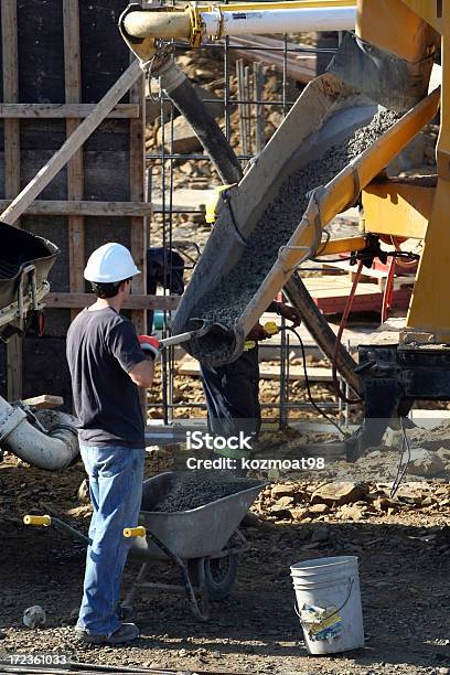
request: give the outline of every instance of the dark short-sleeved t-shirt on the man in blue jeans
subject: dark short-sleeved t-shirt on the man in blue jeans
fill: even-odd
[[[84,309],[67,333],[79,442],[144,447],[138,387],[128,373],[146,357],[130,321],[113,308]]]

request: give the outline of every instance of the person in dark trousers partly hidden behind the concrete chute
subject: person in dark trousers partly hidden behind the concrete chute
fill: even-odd
[[[285,302],[272,302],[267,311],[277,312],[294,326],[301,322],[300,311]],[[258,438],[261,428],[258,342],[268,338],[270,334],[257,323],[247,335],[247,342],[251,344],[246,346],[239,358],[215,368],[201,364],[210,433],[231,438],[243,432],[253,440]],[[232,447],[214,452],[236,460],[247,459],[250,454],[247,448]]]

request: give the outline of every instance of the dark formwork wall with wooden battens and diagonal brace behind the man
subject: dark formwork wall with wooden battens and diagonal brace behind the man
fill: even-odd
[[[142,76],[136,62],[130,65],[117,29],[126,6],[126,0],[1,2],[0,208],[7,211],[1,219],[60,248],[50,275],[49,345],[64,339],[71,313],[92,298],[83,269],[92,250],[108,240],[130,247],[142,270],[129,307],[138,330],[146,326],[147,308],[160,304],[143,297],[144,218],[152,210],[143,191]],[[162,301],[164,308],[176,303]],[[26,363],[32,344],[24,341]],[[42,368],[56,367],[50,346],[44,354],[45,339],[41,344]],[[19,366],[18,354],[8,360],[9,382],[18,382],[11,368]],[[39,394],[34,385],[26,384],[23,394]],[[61,394],[69,399],[67,389]],[[9,392],[10,398],[21,396]]]

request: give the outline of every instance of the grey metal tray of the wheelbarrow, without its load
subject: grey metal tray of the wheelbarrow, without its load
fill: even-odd
[[[156,504],[158,495],[165,493],[175,475],[175,472],[168,471],[144,481],[142,503]],[[214,556],[225,548],[266,484],[255,481],[253,488],[190,511],[167,513],[141,510],[139,524],[183,560]],[[167,560],[165,554],[144,537],[136,538],[130,553],[140,559]]]

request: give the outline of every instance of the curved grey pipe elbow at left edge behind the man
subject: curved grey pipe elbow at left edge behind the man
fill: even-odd
[[[0,447],[38,469],[71,467],[79,453],[76,420],[66,413],[53,410],[52,416],[56,424],[44,433],[29,422],[22,408],[0,397]]]

